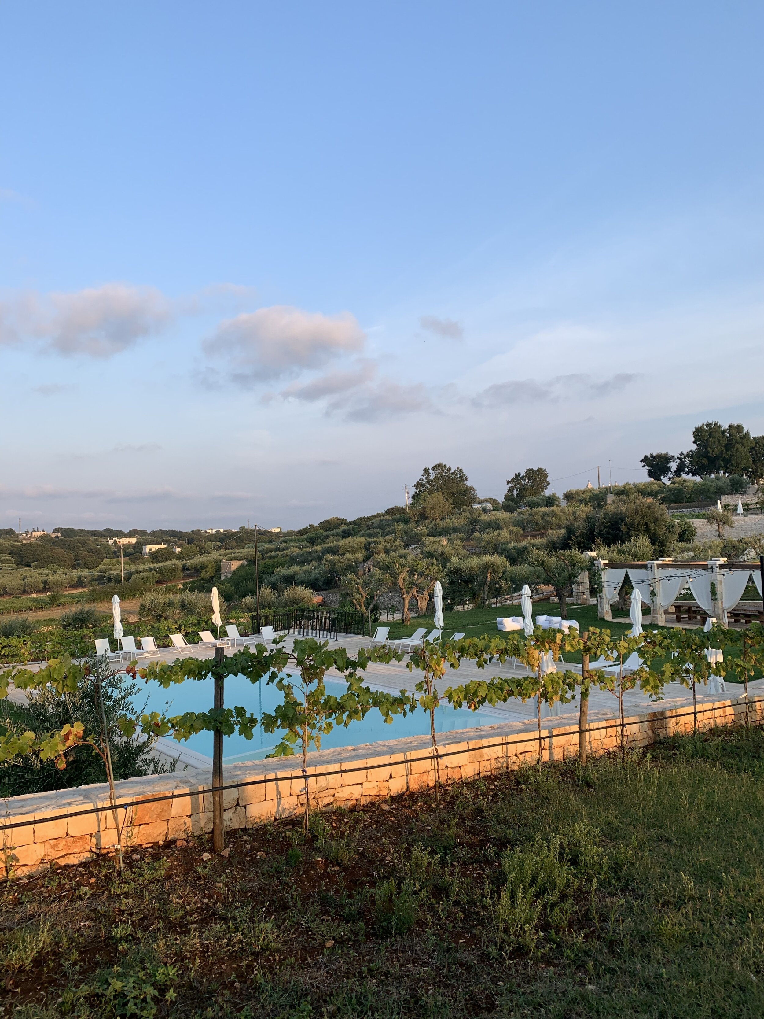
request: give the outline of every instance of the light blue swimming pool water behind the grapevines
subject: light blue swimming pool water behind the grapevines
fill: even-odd
[[[340,696],[346,690],[344,683],[326,680],[326,692]],[[184,711],[208,711],[213,706],[214,684],[211,678],[186,680],[165,690],[157,683],[147,683],[135,698],[135,706],[147,711],[166,714],[182,714]],[[273,711],[282,701],[282,694],[275,685],[250,683],[243,676],[228,677],[225,681],[226,707],[240,706],[260,717],[263,711]],[[503,715],[491,708],[470,711],[468,708],[454,709],[448,704],[435,711],[435,730],[450,733],[457,729],[472,729],[477,726],[494,726],[505,720]],[[428,736],[430,716],[418,708],[404,718],[393,715],[392,723],[385,725],[382,715],[373,708],[362,721],[351,721],[345,729],[335,727],[331,733],[321,737],[321,749],[350,747],[360,743],[376,743],[379,740],[397,740],[404,736]],[[245,760],[260,760],[273,752],[283,736],[283,732],[264,733],[255,730],[252,740],[234,734],[223,738],[223,757],[229,763]],[[212,733],[197,733],[179,746],[189,747],[200,754],[212,757]],[[311,746],[311,750],[315,750]]]

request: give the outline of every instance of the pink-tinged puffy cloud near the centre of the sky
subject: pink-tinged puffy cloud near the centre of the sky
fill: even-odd
[[[349,312],[322,315],[287,305],[260,308],[222,322],[205,353],[228,358],[231,378],[251,386],[260,380],[322,368],[364,348],[366,335]]]

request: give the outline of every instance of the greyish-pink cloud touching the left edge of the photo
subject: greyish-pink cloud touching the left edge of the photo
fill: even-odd
[[[18,293],[0,302],[0,343],[37,340],[65,356],[110,358],[159,332],[171,317],[170,303],[152,286]]]

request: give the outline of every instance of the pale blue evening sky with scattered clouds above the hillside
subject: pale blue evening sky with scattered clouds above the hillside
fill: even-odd
[[[757,4],[0,3],[0,526],[764,431]]]

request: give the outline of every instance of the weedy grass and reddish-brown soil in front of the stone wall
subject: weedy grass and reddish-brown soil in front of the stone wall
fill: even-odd
[[[512,772],[0,892],[3,1015],[764,1014],[764,734]]]

